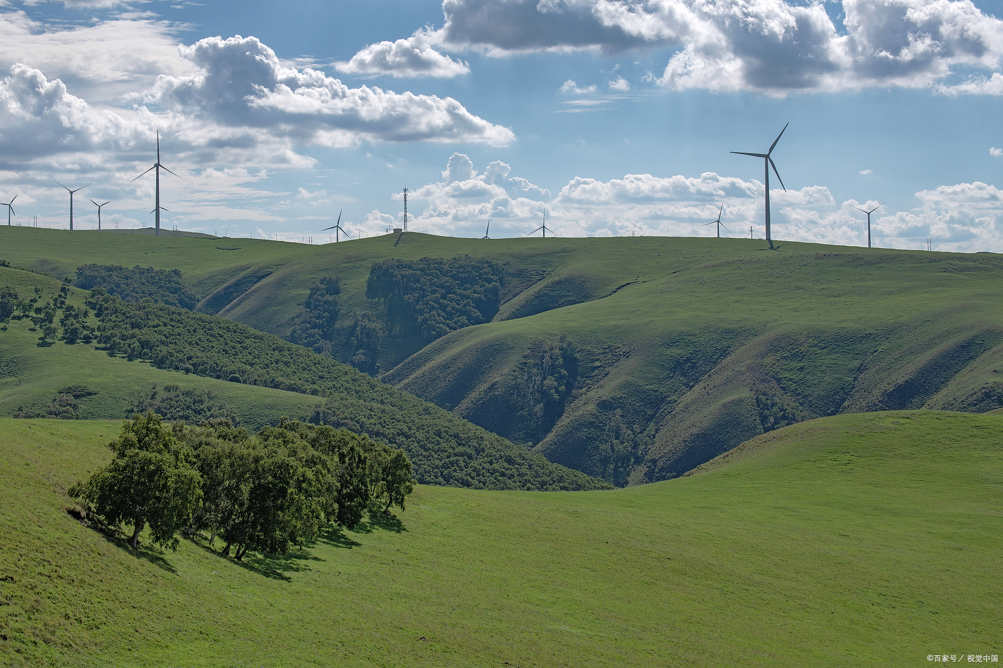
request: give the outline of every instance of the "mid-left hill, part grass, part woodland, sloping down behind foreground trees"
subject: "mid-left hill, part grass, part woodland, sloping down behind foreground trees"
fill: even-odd
[[[0,288],[7,287],[21,299],[38,295],[33,298],[39,306],[65,290],[57,322],[59,313],[82,310],[89,295],[45,275],[0,267]],[[39,341],[32,320],[11,319],[0,328],[0,415],[44,416],[59,408],[53,400],[62,403],[76,393],[78,418],[124,418],[135,410],[135,400],[149,396],[157,384],[158,393],[174,386],[176,397],[180,389],[212,392],[251,429],[289,416],[367,434],[402,448],[423,483],[524,490],[609,487],[330,358],[239,322],[151,301],[129,304],[105,297],[99,306],[87,303],[102,309],[101,337],[109,338],[111,330],[133,342],[132,348],[120,339],[103,346]],[[114,342],[119,353],[111,349]],[[180,373],[193,364],[205,375]],[[211,375],[216,378],[206,378]]]

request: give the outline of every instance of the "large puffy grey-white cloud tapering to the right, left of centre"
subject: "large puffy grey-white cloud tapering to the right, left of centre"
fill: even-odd
[[[332,147],[363,140],[503,146],[516,138],[451,97],[350,88],[311,68],[285,67],[255,37],[210,37],[179,50],[197,72],[158,77],[145,99],[221,127],[262,128],[296,144]]]

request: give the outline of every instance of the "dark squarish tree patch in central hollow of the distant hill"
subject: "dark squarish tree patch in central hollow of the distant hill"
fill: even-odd
[[[369,270],[366,296],[386,302],[391,321],[413,319],[421,338],[490,320],[501,304],[501,265],[480,257],[384,259]]]

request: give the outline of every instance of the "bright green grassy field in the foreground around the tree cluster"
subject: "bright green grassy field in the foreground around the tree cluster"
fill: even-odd
[[[998,415],[846,415],[613,492],[418,487],[394,519],[241,565],[201,542],[135,554],[64,512],[118,423],[0,420],[0,657],[915,666],[1000,654],[1001,427]]]

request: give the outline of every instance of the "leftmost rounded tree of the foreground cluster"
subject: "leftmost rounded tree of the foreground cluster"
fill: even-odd
[[[91,504],[110,526],[131,525],[132,548],[148,525],[154,543],[177,550],[176,534],[202,503],[201,478],[185,449],[153,413],[126,421],[108,446],[111,463],[70,488],[70,496]]]

